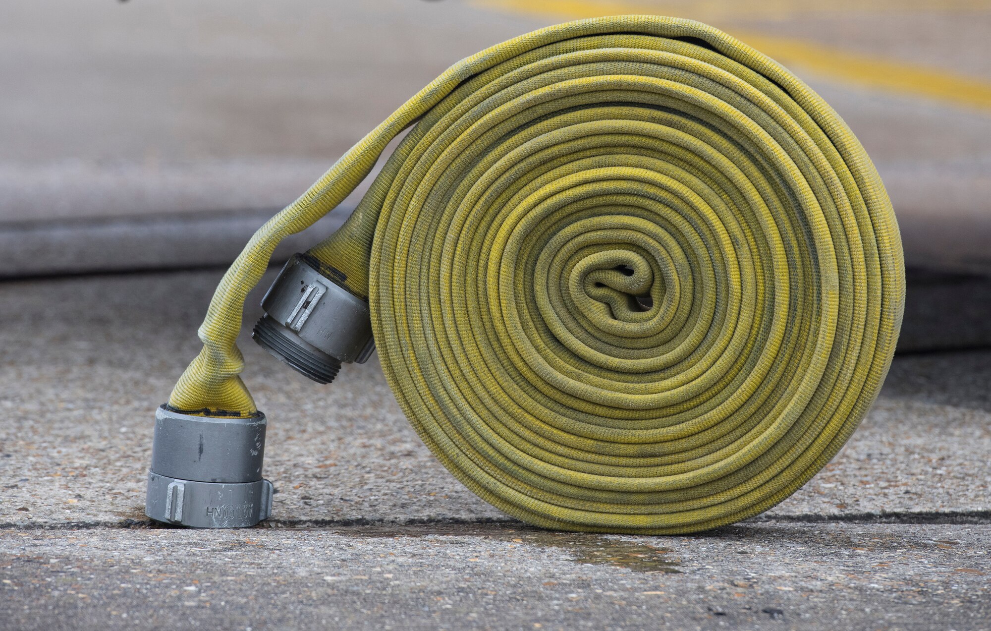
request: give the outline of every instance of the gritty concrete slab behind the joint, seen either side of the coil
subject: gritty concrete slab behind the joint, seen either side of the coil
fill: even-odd
[[[219,277],[0,285],[0,523],[144,520],[154,408],[199,350],[195,331]],[[271,277],[249,299],[246,321],[260,315]],[[245,379],[270,418],[266,474],[278,488],[276,523],[507,519],[434,459],[375,361],[318,386],[247,336],[241,347]],[[847,446],[768,515],[987,521],[991,406],[980,384],[989,372],[989,351],[897,358],[882,399]]]

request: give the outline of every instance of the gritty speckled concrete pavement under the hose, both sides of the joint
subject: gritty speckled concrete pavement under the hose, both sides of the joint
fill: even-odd
[[[243,339],[275,516],[156,528],[153,408],[220,274],[0,284],[0,627],[987,628],[991,350],[927,352],[951,315],[907,320],[918,352],[805,488],[673,538],[525,527],[436,461],[377,362],[318,386]]]

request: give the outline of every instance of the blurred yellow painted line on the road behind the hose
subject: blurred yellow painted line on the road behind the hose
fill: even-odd
[[[487,9],[567,19],[661,14],[665,9],[664,4],[636,5],[606,0],[475,0],[474,4]],[[681,5],[675,2],[667,8]],[[678,11],[675,17],[688,16],[684,11]],[[779,63],[803,68],[829,80],[991,111],[991,82],[980,78],[804,41],[738,31],[730,31],[730,34]]]

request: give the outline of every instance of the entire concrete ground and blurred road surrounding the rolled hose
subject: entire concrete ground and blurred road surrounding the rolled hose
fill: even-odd
[[[451,63],[620,13],[778,59],[877,165],[908,302],[847,446],[739,526],[548,534],[454,480],[376,361],[321,388],[243,333],[275,517],[152,528],[152,411],[251,234]],[[5,2],[0,627],[987,628],[989,314],[991,0]]]

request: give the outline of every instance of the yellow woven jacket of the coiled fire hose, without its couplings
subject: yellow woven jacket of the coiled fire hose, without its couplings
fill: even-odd
[[[901,324],[891,203],[843,121],[716,29],[582,20],[451,66],[248,243],[169,404],[251,415],[235,338],[278,241],[368,298],[385,377],[441,462],[547,528],[687,533],[807,482],[877,396]]]

